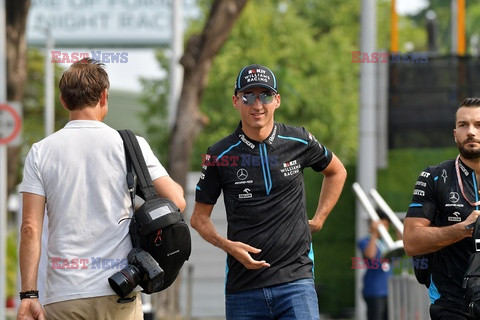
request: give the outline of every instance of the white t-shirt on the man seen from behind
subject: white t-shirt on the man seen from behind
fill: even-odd
[[[152,180],[168,175],[145,139],[137,138]],[[70,121],[32,146],[20,192],[46,198],[45,304],[115,294],[108,278],[127,266],[132,249],[120,134],[100,121]]]

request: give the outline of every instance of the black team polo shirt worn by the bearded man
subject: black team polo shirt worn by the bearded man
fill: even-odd
[[[406,216],[425,218],[433,226],[447,227],[465,221],[472,211],[479,210],[479,206],[470,203],[479,200],[475,171],[461,160],[458,160],[458,168],[455,160],[447,160],[420,173]],[[471,237],[435,252],[428,290],[431,303],[465,311],[463,276],[473,253],[475,247]]]

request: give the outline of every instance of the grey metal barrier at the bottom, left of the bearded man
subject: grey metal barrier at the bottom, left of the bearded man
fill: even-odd
[[[388,320],[428,320],[430,298],[427,288],[412,274],[388,280]]]

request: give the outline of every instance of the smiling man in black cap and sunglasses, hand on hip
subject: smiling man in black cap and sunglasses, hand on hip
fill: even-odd
[[[274,121],[280,107],[273,72],[244,67],[233,107],[240,123],[204,156],[191,225],[227,253],[226,318],[319,319],[313,282],[312,232],[320,230],[341,194],[346,170],[305,128]],[[303,170],[324,175],[308,220]],[[211,220],[223,191],[227,238]]]

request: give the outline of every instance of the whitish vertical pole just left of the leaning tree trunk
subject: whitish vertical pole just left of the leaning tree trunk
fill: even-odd
[[[180,98],[183,68],[179,61],[183,54],[183,1],[172,1],[172,40],[170,57],[170,95],[168,101],[168,126],[173,128]]]

